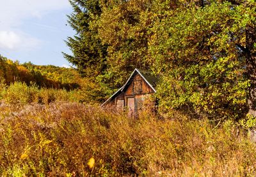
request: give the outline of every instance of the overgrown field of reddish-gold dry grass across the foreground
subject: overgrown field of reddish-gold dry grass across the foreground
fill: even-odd
[[[126,115],[79,103],[2,103],[0,176],[256,175],[256,145],[232,122]]]

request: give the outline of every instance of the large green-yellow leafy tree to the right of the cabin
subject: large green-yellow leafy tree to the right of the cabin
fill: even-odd
[[[186,6],[166,11],[150,41],[152,64],[163,74],[160,107],[236,119],[249,108],[255,115],[254,1]]]

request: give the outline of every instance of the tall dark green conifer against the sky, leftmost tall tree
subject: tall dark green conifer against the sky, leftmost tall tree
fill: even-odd
[[[70,0],[73,13],[68,15],[68,23],[76,31],[66,43],[72,55],[64,57],[77,67],[84,76],[95,78],[106,69],[106,45],[102,45],[97,20],[102,13],[99,0]],[[96,24],[96,25],[95,25]]]

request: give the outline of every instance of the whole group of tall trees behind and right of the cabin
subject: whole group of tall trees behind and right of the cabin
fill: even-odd
[[[68,37],[80,73],[100,98],[134,67],[160,77],[159,110],[192,117],[256,116],[255,1],[71,0]]]

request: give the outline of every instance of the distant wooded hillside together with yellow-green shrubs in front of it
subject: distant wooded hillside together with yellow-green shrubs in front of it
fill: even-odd
[[[99,85],[82,78],[76,69],[19,64],[0,55],[0,104],[49,104],[75,101],[95,104],[103,101]]]

